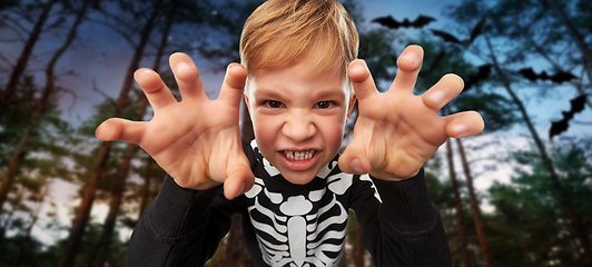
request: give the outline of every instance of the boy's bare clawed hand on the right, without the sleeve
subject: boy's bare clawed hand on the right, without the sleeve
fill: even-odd
[[[358,99],[359,116],[354,137],[339,157],[339,168],[386,180],[415,176],[448,137],[462,138],[483,130],[477,112],[440,117],[438,110],[463,89],[463,80],[446,75],[421,96],[413,93],[423,60],[423,49],[407,47],[397,60],[398,71],[387,92],[376,90],[362,60],[348,73]]]

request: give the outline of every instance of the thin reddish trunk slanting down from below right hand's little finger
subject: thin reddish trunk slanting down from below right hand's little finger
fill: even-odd
[[[478,207],[477,198],[475,196],[475,189],[473,188],[473,176],[471,175],[471,169],[466,160],[466,154],[464,151],[463,142],[461,139],[456,139],[456,145],[458,145],[458,154],[461,155],[461,160],[463,162],[464,176],[466,179],[466,188],[468,189],[468,200],[471,202],[471,211],[473,211],[473,220],[475,221],[475,228],[478,236],[478,244],[481,246],[481,253],[483,254],[483,261],[485,267],[493,267],[493,259],[490,251],[490,243],[487,241],[487,235],[483,229],[483,220],[481,219],[481,209]]]

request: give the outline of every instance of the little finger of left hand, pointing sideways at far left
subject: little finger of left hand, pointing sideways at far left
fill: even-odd
[[[103,121],[97,130],[95,136],[102,141],[125,141],[131,144],[139,144],[146,131],[146,122],[130,121],[126,119],[111,118]]]

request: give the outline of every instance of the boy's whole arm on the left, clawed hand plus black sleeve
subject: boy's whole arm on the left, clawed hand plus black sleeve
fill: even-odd
[[[158,73],[140,69],[135,78],[154,118],[146,122],[112,118],[96,131],[105,141],[139,145],[170,175],[135,229],[130,266],[204,264],[228,231],[231,210],[224,196],[235,198],[254,184],[238,127],[246,69],[230,65],[219,98],[209,100],[188,56],[175,53],[169,61],[181,102]]]

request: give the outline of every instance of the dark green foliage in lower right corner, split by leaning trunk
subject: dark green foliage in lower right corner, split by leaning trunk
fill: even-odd
[[[592,208],[589,205],[592,195],[591,145],[591,139],[562,140],[551,148],[562,187],[572,198],[582,225],[586,226],[585,233],[590,233],[592,221]],[[491,201],[496,210],[492,250],[514,250],[506,254],[505,259],[522,264],[515,266],[523,266],[525,260],[534,266],[549,261],[559,261],[561,266],[581,266],[582,255],[573,249],[575,236],[542,161],[534,151],[523,151],[517,157],[522,166],[512,184],[496,182],[490,188]]]

